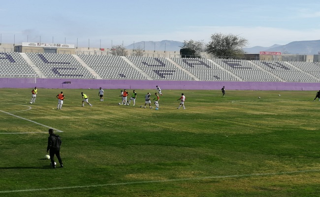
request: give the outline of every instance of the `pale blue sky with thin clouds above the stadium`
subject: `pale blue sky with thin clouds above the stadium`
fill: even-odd
[[[319,0],[0,0],[0,42],[110,48],[214,33],[247,47],[320,39]]]

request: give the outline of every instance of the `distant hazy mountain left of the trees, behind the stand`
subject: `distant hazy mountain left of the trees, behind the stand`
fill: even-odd
[[[146,51],[180,51],[183,42],[173,40],[141,41],[126,46],[127,49],[140,47]]]

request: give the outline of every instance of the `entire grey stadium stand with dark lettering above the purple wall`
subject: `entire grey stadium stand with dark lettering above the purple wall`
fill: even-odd
[[[97,76],[98,79],[320,82],[320,63],[0,52],[2,78],[96,79]]]

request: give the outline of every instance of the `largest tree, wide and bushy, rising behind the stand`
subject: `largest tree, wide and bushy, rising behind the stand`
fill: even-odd
[[[211,35],[211,41],[207,44],[207,53],[218,58],[230,58],[244,56],[243,47],[248,40],[234,34],[215,33]]]

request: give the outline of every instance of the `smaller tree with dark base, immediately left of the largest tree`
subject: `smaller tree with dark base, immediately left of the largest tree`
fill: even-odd
[[[194,40],[184,40],[183,46],[181,46],[180,54],[181,57],[190,57],[190,58],[201,58],[201,52],[204,52],[205,44],[203,40],[194,41]]]

